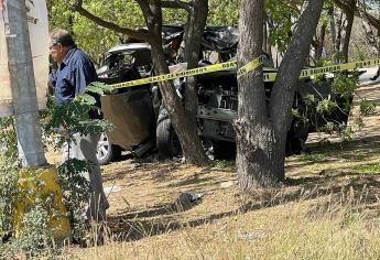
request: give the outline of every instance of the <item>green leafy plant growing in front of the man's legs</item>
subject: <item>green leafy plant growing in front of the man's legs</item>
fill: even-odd
[[[111,87],[102,83],[94,83],[86,88],[86,91],[63,106],[51,104],[45,115],[47,123],[44,126],[45,136],[55,136],[51,140],[55,150],[63,150],[67,147],[70,151],[70,143],[75,142],[73,133],[100,134],[110,131],[112,126],[105,120],[89,119],[89,112],[98,110],[95,96],[111,90]],[[89,182],[84,174],[90,170],[93,163],[85,160],[70,159],[58,166],[59,183],[64,192],[64,203],[68,208],[72,224],[72,238],[75,241],[84,241],[87,230],[87,219],[84,208],[91,194]]]

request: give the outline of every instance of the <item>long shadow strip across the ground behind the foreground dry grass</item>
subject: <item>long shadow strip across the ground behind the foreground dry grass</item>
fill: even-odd
[[[176,210],[175,207],[173,207],[173,204],[167,204],[139,213],[124,213],[119,216],[110,217],[108,219],[109,226],[111,227],[111,234],[115,235],[117,240],[130,241],[139,240],[143,237],[158,236],[176,229],[197,227],[225,217],[285,205],[287,203],[305,202],[327,195],[339,198],[347,192],[354,193],[357,196],[362,196],[365,194],[362,203],[366,205],[378,203],[378,196],[380,195],[380,174],[371,176],[355,176],[347,183],[340,182],[340,185],[325,185],[329,182],[338,183],[338,178],[341,176],[344,175],[339,174],[322,178],[289,178],[286,180],[285,187],[275,192],[272,191],[270,194],[267,194],[267,198],[262,201],[252,199],[237,207],[235,210],[209,214],[187,221],[180,221],[176,217],[180,210]],[[317,184],[315,184],[315,182],[317,182]],[[287,186],[296,186],[297,188],[292,192],[286,192]],[[260,197],[265,197],[265,195],[260,194]],[[254,198],[254,195],[251,198]],[[376,209],[377,208],[373,207],[373,210]],[[154,216],[159,217],[152,218]]]

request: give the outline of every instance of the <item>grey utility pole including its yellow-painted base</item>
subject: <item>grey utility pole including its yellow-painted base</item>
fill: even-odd
[[[17,201],[13,216],[14,237],[25,231],[23,217],[35,206],[37,198],[53,195],[53,208],[48,210],[47,225],[53,237],[63,241],[70,235],[70,224],[62,199],[57,170],[54,165],[47,165],[43,150],[25,0],[6,0],[4,20],[13,115],[22,166],[19,170],[19,187],[29,186],[30,196],[33,198]],[[44,185],[35,185],[37,181]]]

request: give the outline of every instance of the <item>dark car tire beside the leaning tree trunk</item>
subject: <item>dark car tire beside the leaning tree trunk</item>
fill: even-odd
[[[156,145],[159,160],[169,160],[174,156],[174,129],[171,120],[165,118],[156,127]]]

